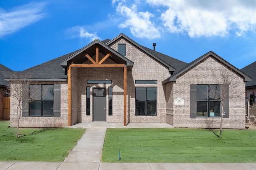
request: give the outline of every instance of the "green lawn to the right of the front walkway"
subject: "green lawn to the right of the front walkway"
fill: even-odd
[[[107,129],[102,162],[256,162],[256,131]]]

